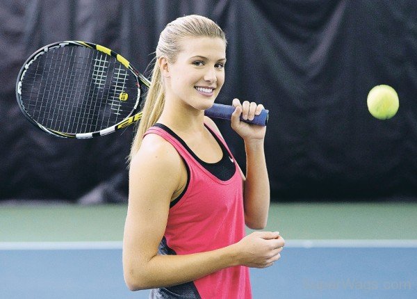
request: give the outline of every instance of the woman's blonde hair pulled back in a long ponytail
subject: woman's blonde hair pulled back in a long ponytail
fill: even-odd
[[[142,109],[143,116],[140,119],[135,137],[133,138],[129,161],[138,152],[142,144],[143,135],[147,129],[152,127],[158,118],[161,117],[165,104],[165,91],[161,78],[161,70],[157,61],[158,58],[163,56],[171,63],[174,63],[177,60],[179,52],[182,50],[181,41],[184,38],[199,37],[221,38],[226,43],[224,32],[218,24],[200,15],[179,17],[167,24],[161,32],[161,35],[159,35],[158,45],[155,51],[156,59],[154,61],[155,65],[152,72],[151,86],[147,92],[145,106]]]

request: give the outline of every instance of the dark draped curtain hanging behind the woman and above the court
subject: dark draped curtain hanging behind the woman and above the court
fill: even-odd
[[[265,139],[275,200],[415,200],[415,0],[3,0],[0,3],[0,200],[126,202],[133,127],[95,140],[56,138],[21,115],[24,60],[59,40],[86,40],[145,71],[167,22],[188,14],[227,34],[234,97],[270,109]],[[370,116],[373,86],[397,90],[391,120]],[[241,167],[243,142],[216,120]],[[149,170],[152,171],[152,170]]]

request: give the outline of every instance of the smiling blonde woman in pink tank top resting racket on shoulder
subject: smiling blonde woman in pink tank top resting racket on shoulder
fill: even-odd
[[[197,15],[167,24],[152,86],[131,148],[123,241],[129,289],[149,298],[252,298],[249,269],[279,259],[277,232],[263,229],[269,181],[265,127],[240,122],[263,106],[233,100],[231,127],[245,142],[243,175],[215,123],[204,116],[224,83],[226,39]]]

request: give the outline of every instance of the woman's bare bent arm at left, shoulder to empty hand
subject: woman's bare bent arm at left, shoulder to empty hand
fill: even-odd
[[[284,240],[272,232],[255,232],[209,252],[158,254],[170,200],[181,184],[181,163],[172,145],[156,135],[143,140],[131,161],[123,238],[124,280],[129,289],[183,284],[230,266],[263,268],[279,259]]]

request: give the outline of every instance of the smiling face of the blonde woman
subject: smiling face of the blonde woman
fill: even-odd
[[[185,38],[174,63],[167,63],[167,95],[205,110],[213,106],[224,83],[226,45],[221,38]]]

